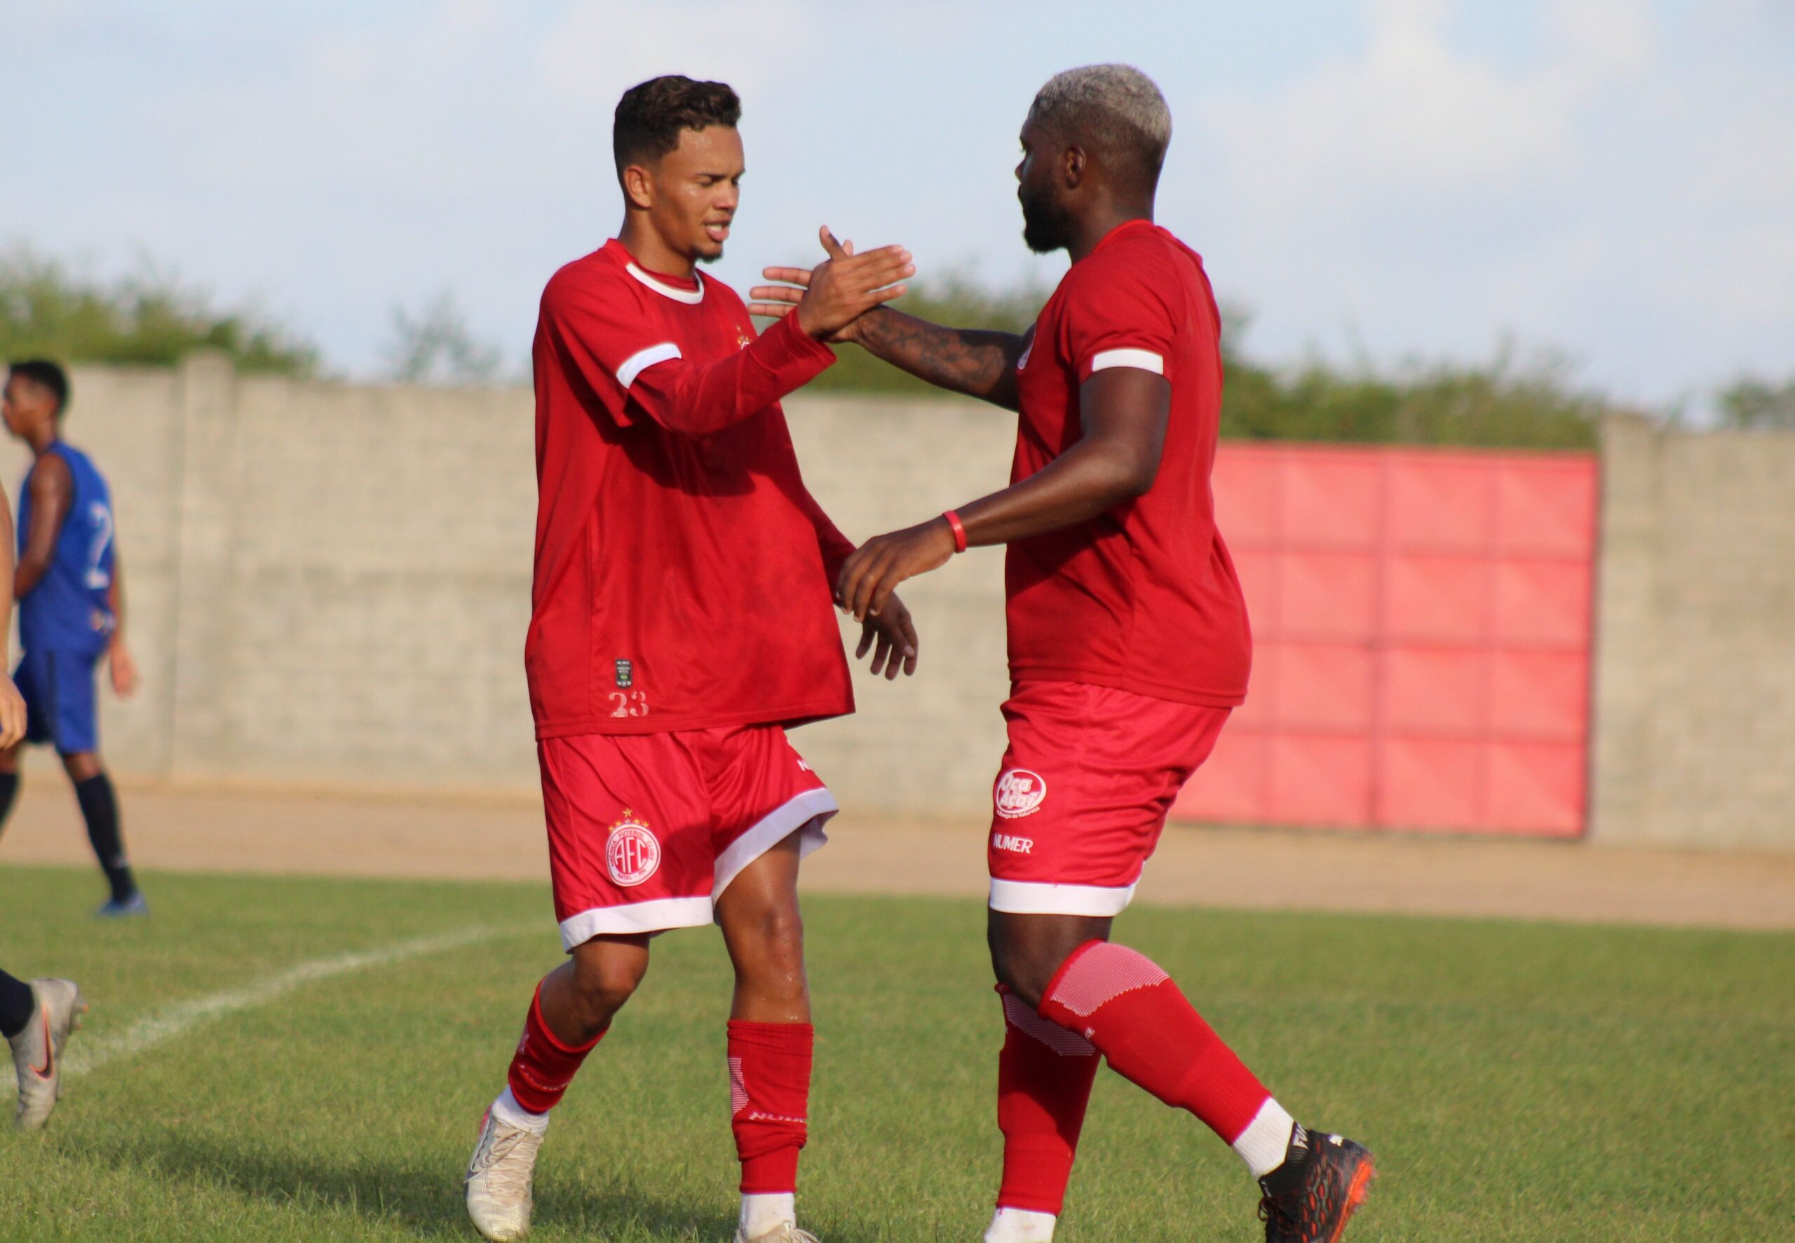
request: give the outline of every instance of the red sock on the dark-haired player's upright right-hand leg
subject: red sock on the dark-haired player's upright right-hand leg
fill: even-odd
[[[729,1128],[741,1159],[741,1195],[797,1191],[813,1042],[808,1022],[729,1021]]]

